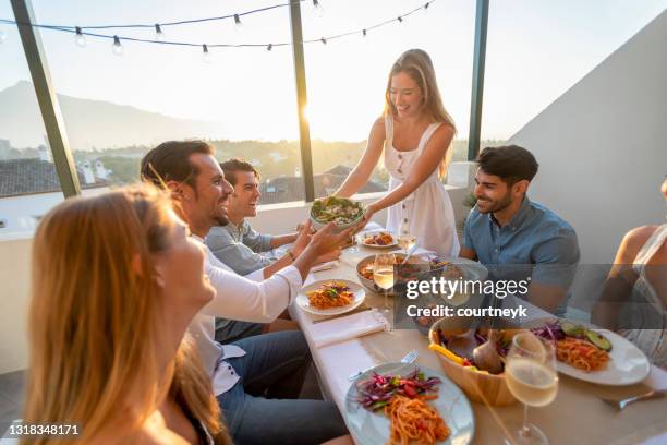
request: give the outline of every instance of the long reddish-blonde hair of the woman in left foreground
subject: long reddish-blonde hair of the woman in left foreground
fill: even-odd
[[[165,326],[153,254],[170,245],[170,205],[154,187],[132,187],[66,200],[43,218],[33,245],[25,423],[77,424],[86,443],[112,421],[140,428],[172,390],[220,441],[227,436],[196,351],[184,344],[158,369]],[[128,412],[130,398],[136,412]]]

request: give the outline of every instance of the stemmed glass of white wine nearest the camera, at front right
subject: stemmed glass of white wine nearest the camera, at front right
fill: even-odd
[[[505,380],[510,393],[523,402],[523,423],[520,428],[510,429],[517,434],[512,443],[548,444],[544,432],[527,423],[527,407],[544,407],[556,398],[558,374],[554,342],[530,332],[517,334],[507,354]]]

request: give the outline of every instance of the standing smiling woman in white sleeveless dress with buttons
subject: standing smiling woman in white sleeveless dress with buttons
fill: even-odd
[[[384,149],[385,167],[391,176],[389,193],[368,205],[366,220],[389,207],[389,231],[409,231],[417,245],[458,256],[453,208],[440,181],[454,133],[430,57],[421,49],[403,52],[389,72],[384,116],[373,124],[362,159],[336,194],[349,197],[356,193],[368,181]]]

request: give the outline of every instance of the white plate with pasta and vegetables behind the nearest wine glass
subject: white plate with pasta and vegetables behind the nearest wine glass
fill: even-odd
[[[643,381],[651,371],[644,352],[611,330],[565,320],[548,320],[531,330],[555,341],[556,368],[570,377],[622,386]]]

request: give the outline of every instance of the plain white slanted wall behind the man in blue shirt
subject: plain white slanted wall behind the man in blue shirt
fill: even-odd
[[[535,155],[530,189],[577,230],[582,263],[611,263],[631,228],[665,222],[667,12],[511,137]]]

